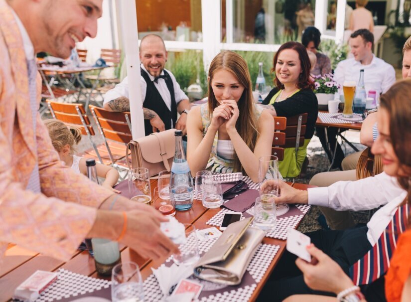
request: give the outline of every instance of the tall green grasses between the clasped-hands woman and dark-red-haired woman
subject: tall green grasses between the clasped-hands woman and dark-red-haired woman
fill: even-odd
[[[241,55],[247,62],[248,69],[250,71],[251,83],[254,85],[257,80],[259,72],[259,62],[263,62],[263,73],[266,78],[267,85],[273,85],[274,72],[271,71],[273,67],[273,52],[262,52],[262,51],[236,51]]]

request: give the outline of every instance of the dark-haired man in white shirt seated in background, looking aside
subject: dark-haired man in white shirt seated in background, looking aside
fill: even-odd
[[[364,84],[367,94],[375,90],[377,96],[386,92],[395,82],[394,67],[373,54],[374,35],[367,29],[354,31],[349,40],[353,58],[342,60],[334,71],[334,80],[341,85],[344,81],[358,84],[360,70],[364,69]],[[342,93],[342,88],[341,91]]]

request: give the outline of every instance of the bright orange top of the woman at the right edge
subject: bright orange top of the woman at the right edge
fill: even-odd
[[[385,276],[385,295],[388,302],[400,302],[404,284],[411,274],[411,229],[401,234],[397,249]]]

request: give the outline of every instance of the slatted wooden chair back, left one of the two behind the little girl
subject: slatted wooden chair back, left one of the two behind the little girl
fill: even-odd
[[[50,110],[53,119],[62,121],[67,124],[76,125],[80,130],[81,134],[87,135],[93,146],[94,151],[97,154],[100,162],[103,163],[101,155],[94,143],[92,136],[95,136],[93,126],[90,123],[89,117],[86,115],[86,110],[83,104],[78,103],[60,103],[51,100],[46,100],[47,106]]]

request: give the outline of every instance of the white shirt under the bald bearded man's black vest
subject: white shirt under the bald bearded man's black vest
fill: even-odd
[[[146,71],[144,66],[141,64],[141,68]],[[174,75],[171,73],[171,71],[165,69],[168,74],[170,75],[170,78],[173,82],[173,87],[174,87],[174,98],[175,98],[175,103],[178,104],[182,100],[188,100],[188,97],[185,95],[184,91],[181,90],[180,85],[177,83],[175,80]],[[148,77],[150,78],[151,81],[154,81],[154,77],[150,75],[148,72]],[[161,71],[160,75],[164,75],[164,71]],[[147,83],[145,83],[145,80],[142,76],[140,76],[141,79],[141,100],[144,102],[145,99],[145,93],[147,90]],[[165,105],[167,105],[168,110],[171,111],[171,95],[170,92],[168,91],[167,84],[165,83],[165,80],[163,78],[159,78],[158,83],[154,82],[155,88],[157,88],[161,98],[164,100]],[[129,79],[128,77],[125,77],[124,80],[117,84],[116,87],[113,89],[109,90],[105,95],[104,95],[104,103],[106,104],[112,100],[115,100],[119,97],[126,97],[130,99],[129,95]]]

